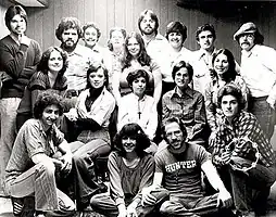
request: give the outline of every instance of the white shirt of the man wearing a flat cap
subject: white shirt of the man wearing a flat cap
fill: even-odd
[[[266,46],[255,44],[249,52],[241,51],[240,74],[252,97],[265,97],[276,82],[276,51]]]

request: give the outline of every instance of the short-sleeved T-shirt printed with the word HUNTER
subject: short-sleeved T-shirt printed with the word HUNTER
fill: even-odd
[[[201,190],[201,166],[211,161],[210,153],[198,144],[187,143],[187,149],[179,155],[172,154],[167,148],[155,156],[155,171],[163,173],[163,187],[171,195],[187,199],[203,196]]]

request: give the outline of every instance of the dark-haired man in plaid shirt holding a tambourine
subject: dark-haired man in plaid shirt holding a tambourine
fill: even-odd
[[[223,124],[211,143],[213,163],[219,174],[230,177],[237,212],[241,216],[263,215],[276,179],[273,148],[256,117],[242,111],[244,100],[238,88],[226,85],[218,91],[217,101]]]

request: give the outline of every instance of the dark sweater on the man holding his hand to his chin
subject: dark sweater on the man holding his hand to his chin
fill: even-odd
[[[11,77],[3,82],[2,98],[23,97],[25,86],[36,72],[40,58],[40,47],[33,39],[29,46],[16,43],[10,35],[0,40],[0,71]]]

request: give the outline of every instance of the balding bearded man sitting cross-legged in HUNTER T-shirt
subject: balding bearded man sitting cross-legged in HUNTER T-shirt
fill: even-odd
[[[142,204],[154,204],[156,191],[170,192],[170,200],[160,208],[164,215],[201,216],[231,205],[230,193],[225,189],[210,154],[196,143],[186,142],[186,128],[176,117],[167,118],[163,126],[167,143],[155,154],[155,174],[152,186],[142,190]],[[218,193],[204,196],[201,189],[203,170]],[[160,188],[161,184],[165,189]]]

